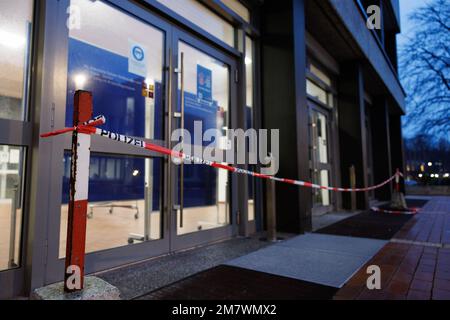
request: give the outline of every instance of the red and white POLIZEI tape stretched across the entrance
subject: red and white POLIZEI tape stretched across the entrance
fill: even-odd
[[[161,154],[165,154],[171,157],[176,157],[176,158],[180,158],[183,160],[187,160],[187,161],[191,161],[193,163],[196,164],[204,164],[210,167],[214,167],[214,168],[218,168],[218,169],[224,169],[224,170],[228,170],[234,173],[241,173],[241,174],[246,174],[246,175],[250,175],[253,177],[257,177],[257,178],[262,178],[262,179],[270,179],[270,180],[274,180],[274,181],[278,181],[278,182],[284,182],[284,183],[289,183],[289,184],[293,184],[293,185],[297,185],[297,186],[303,186],[303,187],[308,187],[308,188],[313,188],[313,189],[322,189],[322,190],[330,190],[330,191],[338,191],[338,192],[363,192],[363,191],[370,191],[370,190],[374,190],[374,189],[378,189],[381,188],[382,186],[388,184],[389,182],[391,182],[392,180],[396,180],[396,183],[398,184],[400,177],[403,177],[403,174],[397,170],[397,172],[390,177],[389,179],[387,179],[386,181],[383,181],[380,184],[377,184],[375,186],[371,186],[371,187],[366,187],[366,188],[338,188],[338,187],[328,187],[328,186],[320,186],[317,184],[313,184],[311,182],[307,182],[307,181],[301,181],[301,180],[293,180],[293,179],[286,179],[286,178],[278,178],[275,176],[271,176],[271,175],[265,175],[265,174],[261,174],[261,173],[257,173],[257,172],[253,172],[253,171],[249,171],[249,170],[245,170],[245,169],[240,169],[240,168],[236,168],[230,165],[226,165],[226,164],[221,164],[215,161],[209,161],[209,160],[205,160],[199,157],[194,157],[188,154],[185,154],[183,152],[178,152],[178,151],[173,151],[170,150],[168,148],[164,148],[152,143],[148,143],[145,142],[143,140],[140,139],[136,139],[130,136],[126,136],[123,134],[119,134],[119,133],[115,133],[115,132],[111,132],[111,131],[107,131],[107,130],[103,130],[103,129],[98,129],[96,128],[96,126],[98,125],[102,125],[106,122],[105,117],[103,116],[98,116],[96,118],[94,118],[91,121],[88,121],[86,123],[83,123],[83,125],[81,126],[77,126],[77,127],[69,127],[69,128],[64,128],[62,130],[56,130],[56,131],[52,131],[49,133],[44,133],[41,134],[42,138],[47,138],[47,137],[51,137],[51,136],[56,136],[56,135],[60,135],[60,134],[64,134],[67,132],[72,132],[72,131],[77,131],[79,133],[83,133],[83,134],[96,134],[105,138],[108,138],[110,140],[114,140],[114,141],[118,141],[118,142],[122,142],[128,145],[132,145],[135,146],[137,148],[142,148],[142,149],[147,149],[150,151],[154,151],[157,153],[161,153]]]

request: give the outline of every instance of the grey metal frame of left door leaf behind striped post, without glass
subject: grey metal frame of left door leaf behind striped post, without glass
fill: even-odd
[[[57,11],[64,16],[67,6],[69,4],[69,0],[63,0],[59,2]],[[165,43],[164,43],[164,65],[161,66],[163,70],[166,70],[167,63],[169,61],[169,47],[170,47],[170,39],[172,37],[172,25],[170,23],[165,22],[163,19],[158,16],[152,14],[149,11],[142,10],[142,8],[138,7],[136,4],[127,3],[124,5],[121,1],[116,0],[106,0],[103,1],[107,5],[111,5],[115,9],[118,9],[123,14],[129,15],[131,18],[138,19],[141,22],[156,28],[162,31],[165,34]],[[60,20],[59,24],[63,21]],[[65,22],[65,21],[64,21]],[[66,94],[67,94],[67,63],[68,63],[68,32],[66,28],[61,28],[64,32],[60,32],[55,39],[52,39],[55,43],[58,43],[58,55],[60,59],[55,61],[53,70],[64,70],[60,72],[60,90],[55,94],[55,100],[57,103],[54,106],[54,128],[62,128],[65,126],[65,113],[66,113]],[[168,85],[168,73],[163,72],[163,90],[164,90],[164,114],[167,114],[167,88]],[[51,110],[48,110],[52,112]],[[45,111],[44,111],[45,112]],[[164,116],[164,128],[167,127],[167,116]],[[53,128],[52,127],[52,128]],[[50,129],[50,128],[49,128]],[[165,129],[164,129],[165,130]],[[42,130],[42,131],[45,131]],[[46,268],[45,268],[45,279],[44,284],[49,284],[57,281],[61,281],[63,279],[63,270],[64,270],[64,259],[59,258],[59,233],[60,233],[60,222],[61,222],[61,190],[62,190],[62,172],[63,166],[62,161],[64,151],[70,150],[70,141],[71,136],[65,135],[60,138],[51,139],[46,143],[51,145],[52,152],[50,154],[50,161],[52,172],[55,174],[52,177],[49,177],[49,181],[51,181],[51,188],[49,190],[49,197],[52,199],[50,202],[50,208],[47,213],[47,257],[46,257]],[[159,145],[164,145],[164,141],[159,140],[146,140],[148,142],[152,142]],[[101,139],[101,137],[92,137],[92,147],[91,151],[100,152],[100,153],[108,153],[111,155],[126,155],[126,156],[137,156],[137,157],[148,157],[149,155],[155,158],[164,159],[164,157],[160,154],[156,153],[148,153],[145,150],[139,150],[132,148],[123,144],[112,144],[107,140]],[[133,245],[124,245],[121,247],[106,249],[102,251],[96,251],[92,253],[86,254],[85,260],[85,273],[94,273],[102,270],[106,270],[112,267],[118,267],[120,265],[125,265],[129,263],[134,263],[137,261],[149,259],[155,256],[160,256],[166,254],[170,251],[169,249],[169,235],[165,233],[164,224],[166,224],[166,208],[167,208],[167,169],[166,161],[162,161],[163,163],[163,173],[161,175],[162,179],[162,200],[161,200],[161,223],[162,223],[162,233],[161,239],[159,240],[151,240],[144,241],[141,243],[135,243]]]

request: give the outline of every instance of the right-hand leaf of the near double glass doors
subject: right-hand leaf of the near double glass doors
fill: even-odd
[[[235,65],[188,35],[176,34],[175,43],[174,129],[183,133],[172,143],[187,154],[203,158],[214,152],[218,155],[224,146],[217,136],[225,136],[231,124]],[[193,163],[173,164],[173,172],[172,247],[176,250],[229,235],[229,173]]]

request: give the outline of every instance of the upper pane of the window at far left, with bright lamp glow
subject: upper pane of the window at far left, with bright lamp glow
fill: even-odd
[[[0,1],[0,118],[25,120],[32,0]]]

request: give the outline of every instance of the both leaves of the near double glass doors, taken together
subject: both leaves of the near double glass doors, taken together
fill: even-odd
[[[70,3],[80,9],[83,23],[67,30],[67,59],[55,62],[55,69],[67,70],[66,90],[54,93],[60,102],[55,128],[72,125],[74,93],[87,90],[94,115],[107,119],[106,130],[173,148],[172,132],[184,128],[192,137],[185,139],[184,151],[195,154],[199,148],[200,156],[206,145],[220,144],[214,138],[204,143],[202,133],[224,133],[231,125],[233,58],[150,13],[138,19],[103,1]],[[196,135],[198,125],[203,128]],[[46,270],[51,283],[63,276],[71,137],[46,143],[53,150]],[[167,160],[92,137],[86,273],[232,235],[229,174]]]

